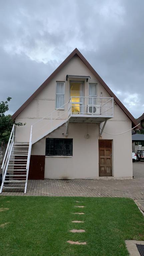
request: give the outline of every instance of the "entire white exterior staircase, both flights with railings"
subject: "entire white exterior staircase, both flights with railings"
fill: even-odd
[[[16,142],[16,126],[15,124],[13,125],[1,166],[2,184],[0,193],[2,191],[24,191],[26,193],[32,144],[56,130],[64,123],[66,123],[67,132],[69,101],[61,107],[66,107],[66,105],[66,111],[59,114],[59,116],[57,116],[57,109],[31,125],[29,142]]]

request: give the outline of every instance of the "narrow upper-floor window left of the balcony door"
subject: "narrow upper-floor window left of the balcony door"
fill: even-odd
[[[56,108],[64,109],[64,82],[56,83]]]

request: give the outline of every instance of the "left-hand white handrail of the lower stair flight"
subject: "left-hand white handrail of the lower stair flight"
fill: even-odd
[[[3,163],[2,163],[2,166],[1,166],[1,169],[2,169],[2,184],[1,184],[1,188],[0,188],[0,193],[2,192],[2,188],[3,188],[3,184],[4,184],[8,164],[9,164],[9,159],[10,159],[11,151],[12,151],[13,144],[14,144],[14,138],[15,138],[14,132],[15,132],[15,124],[13,125],[11,135],[10,135],[10,138],[9,138],[9,142],[8,142],[8,145],[7,145],[7,149],[6,149],[6,152],[5,152],[5,156],[4,156],[4,159],[3,159]]]

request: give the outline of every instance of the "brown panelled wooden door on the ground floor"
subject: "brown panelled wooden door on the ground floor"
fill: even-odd
[[[112,176],[112,140],[99,140],[99,176]]]

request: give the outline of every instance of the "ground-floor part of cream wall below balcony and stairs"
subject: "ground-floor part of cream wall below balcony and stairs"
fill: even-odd
[[[123,128],[121,122],[108,121],[105,130],[109,133],[120,133],[122,129],[131,129],[131,122],[124,121]],[[68,136],[63,136],[64,132],[65,125],[32,146],[32,155],[45,155],[46,138],[73,138],[73,156],[46,156],[45,178],[99,178],[98,124],[70,123]],[[89,139],[85,138],[86,133],[91,135]],[[132,178],[131,132],[118,136],[103,133],[102,139],[113,140],[113,177]]]

